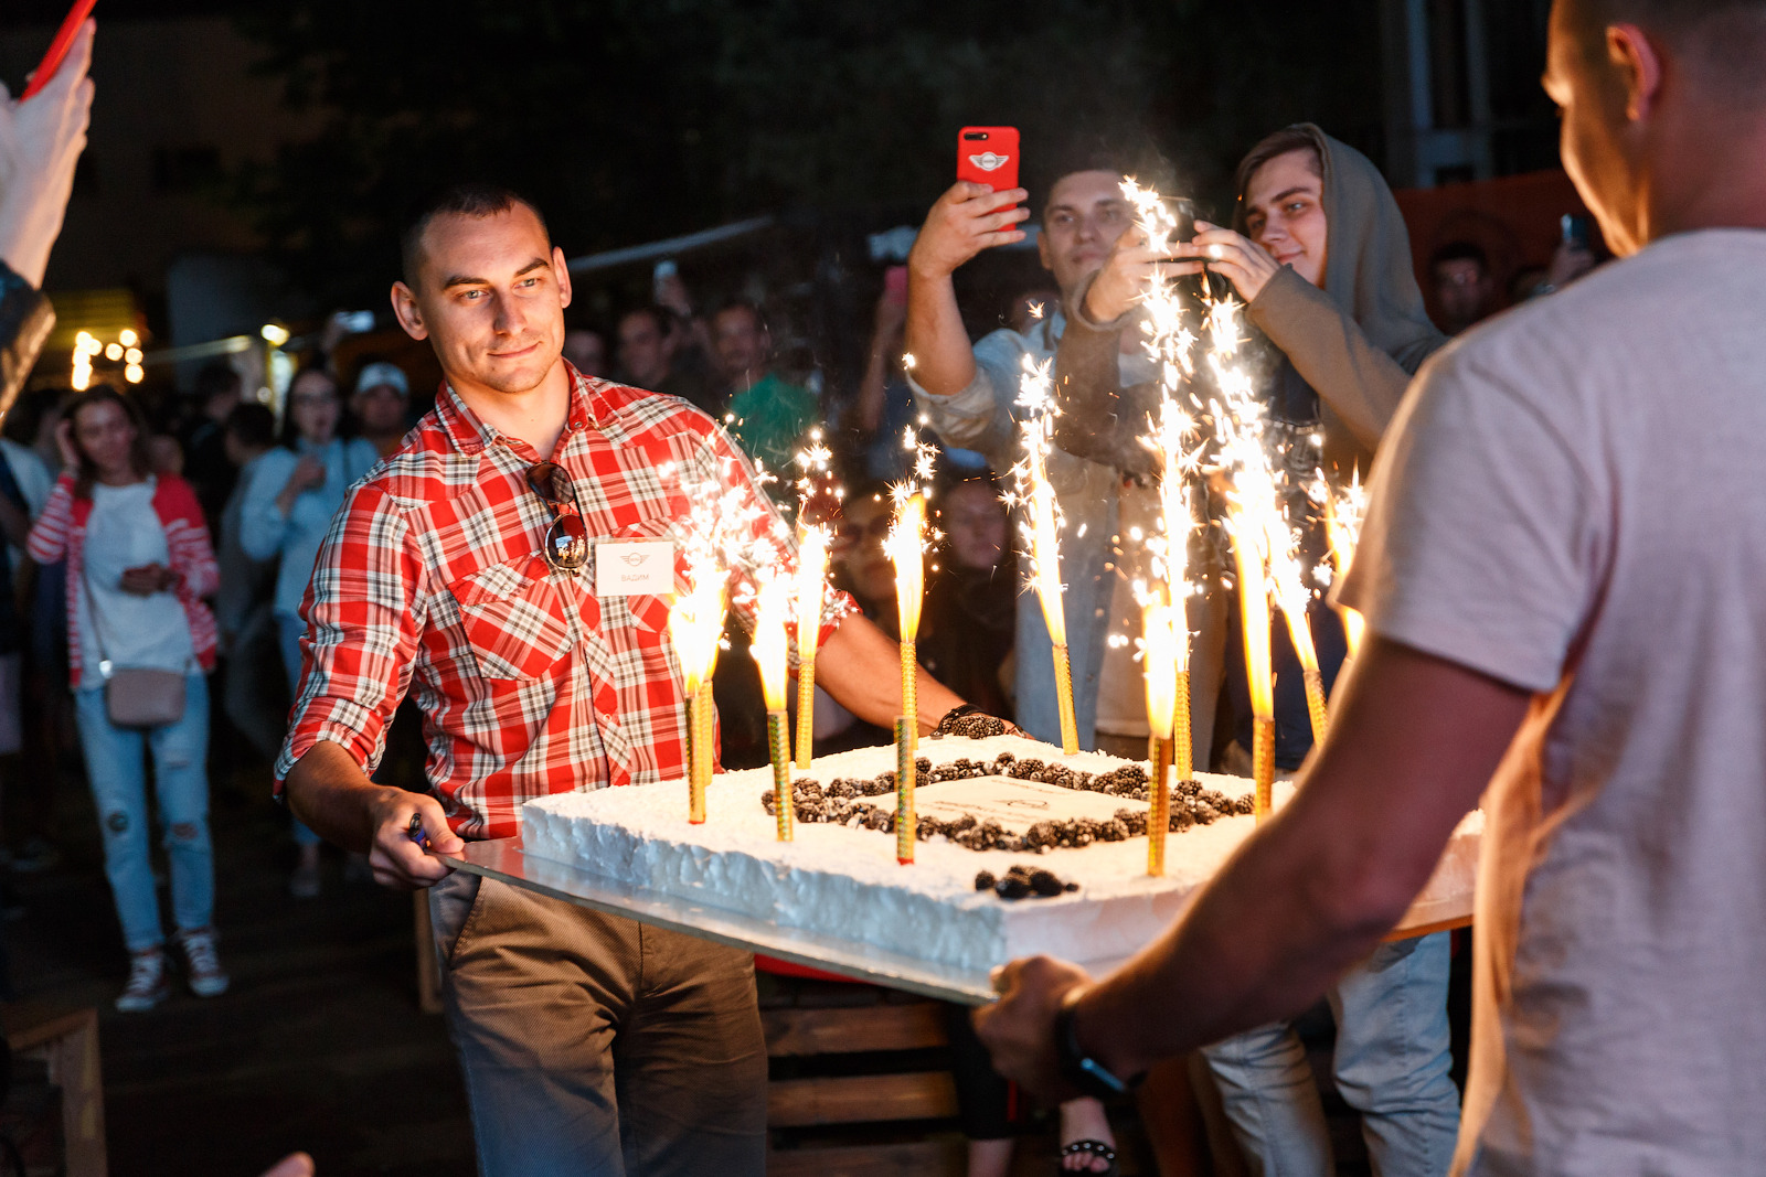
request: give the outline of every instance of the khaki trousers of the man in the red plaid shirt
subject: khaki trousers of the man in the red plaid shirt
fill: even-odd
[[[759,1177],[754,958],[456,872],[431,888],[484,1177]]]

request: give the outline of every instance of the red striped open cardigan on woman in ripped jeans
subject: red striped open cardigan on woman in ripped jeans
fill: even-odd
[[[154,487],[154,514],[166,529],[171,570],[178,574],[173,591],[191,623],[191,646],[203,671],[215,669],[215,616],[203,596],[221,586],[221,566],[208,544],[208,524],[191,484],[177,475],[159,475]],[[74,476],[64,473],[30,529],[26,551],[39,565],[67,558],[67,667],[69,681],[79,686],[79,593],[87,568],[87,521],[92,499],[74,496]]]

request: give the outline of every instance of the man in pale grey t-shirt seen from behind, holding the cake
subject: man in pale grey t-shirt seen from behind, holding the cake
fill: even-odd
[[[1037,1091],[1303,1008],[1483,794],[1455,1170],[1759,1172],[1766,0],[1558,0],[1545,86],[1625,261],[1418,374],[1342,588],[1370,641],[1330,738],[1120,972],[1003,971],[980,1032]]]

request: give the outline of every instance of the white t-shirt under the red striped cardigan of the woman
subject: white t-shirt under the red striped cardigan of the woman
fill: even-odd
[[[92,672],[99,662],[99,632],[92,611],[99,611],[104,656],[117,667],[184,671],[196,665],[191,621],[175,593],[136,596],[122,591],[122,574],[141,565],[168,565],[166,528],[154,512],[154,480],[127,487],[92,487],[92,515],[87,519],[85,579],[90,596],[78,596],[79,656]],[[94,685],[97,678],[88,681]]]

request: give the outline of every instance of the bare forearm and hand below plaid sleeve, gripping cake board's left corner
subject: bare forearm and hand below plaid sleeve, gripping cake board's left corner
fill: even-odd
[[[284,782],[288,808],[309,829],[346,851],[366,851],[374,881],[401,889],[427,888],[454,868],[436,854],[466,849],[449,829],[442,803],[426,792],[376,785],[350,753],[328,739],[307,748]],[[411,815],[422,817],[424,851],[410,838]]]

